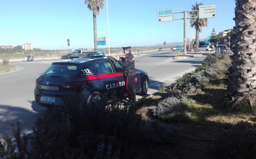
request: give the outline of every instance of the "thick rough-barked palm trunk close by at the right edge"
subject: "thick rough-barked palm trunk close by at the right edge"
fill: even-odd
[[[229,70],[231,91],[244,96],[256,90],[256,2],[236,0],[235,37],[232,66]]]

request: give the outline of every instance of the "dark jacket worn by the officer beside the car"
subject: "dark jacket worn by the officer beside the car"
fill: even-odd
[[[135,59],[134,56],[132,55],[131,52],[129,52],[128,54],[126,54],[125,58],[124,57],[120,57],[118,60],[118,63],[124,68],[125,71],[135,71]]]

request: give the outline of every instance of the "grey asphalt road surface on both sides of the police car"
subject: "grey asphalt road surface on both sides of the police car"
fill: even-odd
[[[163,85],[173,83],[183,74],[193,71],[202,64],[206,56],[173,60],[177,51],[159,51],[135,56],[135,67],[148,73],[150,88],[148,94]],[[32,130],[36,119],[50,110],[34,102],[35,79],[53,61],[16,62],[17,70],[0,74],[0,137],[11,132],[11,123],[21,122],[22,132]],[[140,98],[137,96],[137,98]]]

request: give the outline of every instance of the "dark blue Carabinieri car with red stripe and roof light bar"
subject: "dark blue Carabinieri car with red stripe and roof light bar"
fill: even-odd
[[[149,87],[148,74],[136,70],[135,86],[138,95]],[[35,102],[46,108],[64,105],[70,93],[76,92],[80,103],[90,104],[103,95],[107,99],[127,98],[124,69],[104,53],[72,54],[70,59],[52,63],[37,79]]]

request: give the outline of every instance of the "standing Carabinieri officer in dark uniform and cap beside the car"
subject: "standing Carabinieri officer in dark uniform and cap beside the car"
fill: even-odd
[[[126,89],[128,91],[129,103],[136,102],[136,89],[135,89],[135,59],[131,53],[131,46],[123,47],[125,57],[114,55],[118,63],[124,68],[126,76]]]

